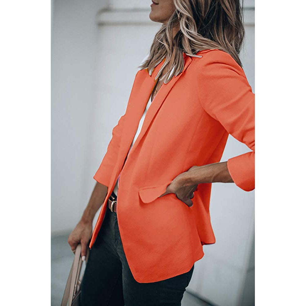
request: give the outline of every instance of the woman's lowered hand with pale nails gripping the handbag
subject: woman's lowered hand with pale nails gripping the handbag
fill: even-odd
[[[76,246],[81,244],[81,256],[86,256],[87,244],[91,237],[92,222],[81,220],[68,237],[71,251],[74,253]]]

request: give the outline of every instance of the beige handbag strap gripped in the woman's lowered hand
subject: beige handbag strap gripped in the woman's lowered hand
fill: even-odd
[[[86,262],[88,260],[88,254],[89,254],[89,250],[87,248]],[[74,291],[76,289],[77,281],[80,276],[81,266],[82,266],[81,244],[78,244],[76,247],[76,251],[74,253],[73,263],[72,263],[72,266],[69,272],[69,276],[66,282],[61,306],[67,306],[67,303],[68,303],[68,306],[71,306],[73,296],[74,296]]]

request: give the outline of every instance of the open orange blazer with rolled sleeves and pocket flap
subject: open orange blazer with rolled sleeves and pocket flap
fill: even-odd
[[[211,184],[198,185],[192,207],[174,193],[159,196],[190,167],[219,162],[229,133],[252,150],[227,161],[230,175],[241,189],[255,188],[255,95],[243,69],[229,54],[218,49],[197,54],[202,57],[183,53],[183,71],[162,84],[127,156],[165,59],[151,76],[148,69],[137,72],[125,114],[114,127],[94,176],[108,191],[89,247],[121,172],[118,225],[137,282],[185,273],[203,257],[203,245],[215,243],[209,214]]]

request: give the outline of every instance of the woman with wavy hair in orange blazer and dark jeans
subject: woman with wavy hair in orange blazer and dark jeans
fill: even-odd
[[[162,27],[68,239],[84,256],[91,237],[82,305],[180,305],[203,245],[215,243],[211,183],[255,188],[240,1],[152,2]],[[252,151],[220,162],[229,133]]]

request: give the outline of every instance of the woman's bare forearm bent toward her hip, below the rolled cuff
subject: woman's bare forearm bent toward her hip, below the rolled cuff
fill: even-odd
[[[186,181],[190,185],[201,183],[233,183],[227,162],[216,162],[204,166],[194,166],[186,174]]]

